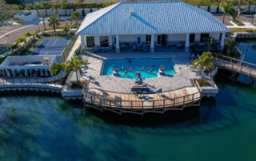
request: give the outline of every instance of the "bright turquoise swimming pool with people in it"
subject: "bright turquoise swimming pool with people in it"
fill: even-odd
[[[137,79],[136,73],[141,73],[142,78],[158,77],[158,69],[163,65],[166,74],[175,74],[172,59],[117,59],[105,60],[102,65],[102,76],[110,76],[114,69],[118,69],[120,77]],[[122,68],[124,67],[124,68]],[[130,70],[132,68],[133,70]],[[126,73],[125,73],[126,71]]]

